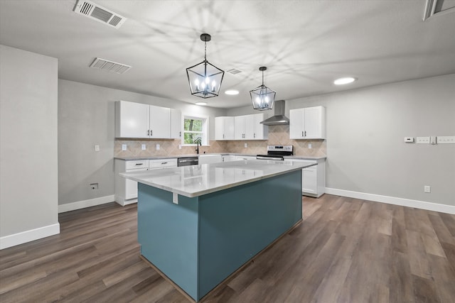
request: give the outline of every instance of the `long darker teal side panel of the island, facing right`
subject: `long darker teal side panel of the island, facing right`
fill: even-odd
[[[199,199],[200,299],[301,221],[301,170]]]

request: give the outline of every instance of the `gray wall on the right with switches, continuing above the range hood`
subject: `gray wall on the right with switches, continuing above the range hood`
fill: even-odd
[[[455,75],[290,100],[287,115],[318,105],[326,106],[326,187],[455,206],[455,144],[404,143],[455,136]]]

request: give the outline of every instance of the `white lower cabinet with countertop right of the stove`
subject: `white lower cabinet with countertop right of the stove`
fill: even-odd
[[[304,196],[321,197],[326,192],[326,160],[299,160],[293,162],[317,163],[301,170],[301,192]]]

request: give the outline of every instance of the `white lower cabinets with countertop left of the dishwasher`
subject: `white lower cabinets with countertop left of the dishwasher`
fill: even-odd
[[[120,177],[120,172],[140,172],[164,167],[176,167],[177,159],[120,160],[115,159],[115,202],[125,206],[137,202],[137,182]]]

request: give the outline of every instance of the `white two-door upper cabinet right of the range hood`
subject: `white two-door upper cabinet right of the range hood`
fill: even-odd
[[[289,111],[289,138],[325,139],[326,108],[323,106],[291,109]]]

